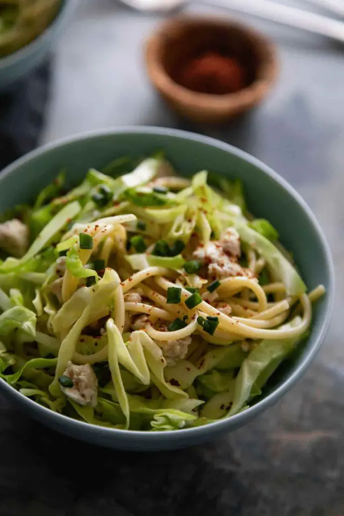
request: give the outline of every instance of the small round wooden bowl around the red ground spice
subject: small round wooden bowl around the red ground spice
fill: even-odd
[[[245,72],[246,86],[235,93],[206,94],[178,84],[178,71],[204,52],[234,57]],[[258,104],[277,71],[272,44],[254,29],[233,20],[184,17],[163,24],[147,42],[149,77],[168,103],[196,122],[224,122]]]

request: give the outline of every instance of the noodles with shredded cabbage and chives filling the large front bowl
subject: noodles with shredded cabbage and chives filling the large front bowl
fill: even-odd
[[[4,214],[0,376],[109,428],[231,417],[297,348],[324,287],[306,293],[240,181],[185,179],[160,154],[130,164],[70,190],[61,172]]]

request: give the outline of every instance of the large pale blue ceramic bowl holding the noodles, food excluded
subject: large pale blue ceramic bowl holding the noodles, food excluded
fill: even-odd
[[[4,380],[2,390],[32,417],[56,430],[90,443],[112,448],[155,450],[191,446],[235,430],[281,398],[314,359],[330,324],[334,299],[334,269],[329,246],[306,203],[269,167],[254,157],[211,138],[154,127],[118,128],[54,142],[27,154],[0,175],[0,212],[16,203],[33,200],[62,169],[71,183],[83,179],[89,167],[102,168],[117,157],[142,157],[164,149],[182,174],[202,169],[240,178],[248,205],[257,217],[271,221],[282,243],[294,254],[309,289],[319,283],[326,295],[316,303],[312,329],[293,361],[284,363],[270,392],[256,405],[227,420],[173,432],[138,432],[108,429],[72,420],[44,408],[15,391]],[[18,187],[20,185],[20,187]]]

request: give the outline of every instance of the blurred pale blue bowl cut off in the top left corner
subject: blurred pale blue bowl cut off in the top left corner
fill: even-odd
[[[78,0],[62,0],[54,21],[36,39],[22,49],[0,58],[0,91],[24,77],[44,59],[68,22]]]

